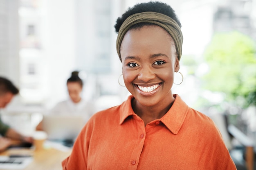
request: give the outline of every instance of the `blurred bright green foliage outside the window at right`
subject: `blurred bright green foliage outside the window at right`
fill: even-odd
[[[223,92],[225,101],[245,108],[256,105],[255,42],[238,32],[217,33],[204,52],[209,72],[202,87]]]

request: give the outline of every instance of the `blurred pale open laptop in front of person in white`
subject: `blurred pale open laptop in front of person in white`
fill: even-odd
[[[83,116],[45,115],[42,125],[48,140],[63,141],[72,145],[85,123]]]

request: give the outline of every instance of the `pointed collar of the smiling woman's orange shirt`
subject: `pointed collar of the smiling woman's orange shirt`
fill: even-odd
[[[189,107],[184,101],[180,98],[179,95],[174,94],[175,100],[171,109],[160,119],[160,121],[175,135],[180,131],[180,128],[186,118]],[[128,116],[134,115],[132,110],[131,101],[133,96],[129,96],[128,99],[121,104],[120,108],[120,122],[122,124]]]

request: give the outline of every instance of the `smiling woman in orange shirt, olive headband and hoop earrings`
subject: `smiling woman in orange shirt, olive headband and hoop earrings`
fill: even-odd
[[[63,170],[235,170],[213,121],[172,94],[183,35],[162,2],[136,4],[117,19],[117,54],[131,95],[95,113]]]

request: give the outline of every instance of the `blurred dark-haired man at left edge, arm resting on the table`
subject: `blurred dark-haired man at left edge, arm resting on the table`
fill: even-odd
[[[11,102],[13,96],[19,93],[17,87],[7,78],[0,77],[0,109],[5,108]],[[0,152],[11,146],[11,139],[32,143],[31,137],[25,137],[4,124],[0,118]]]

